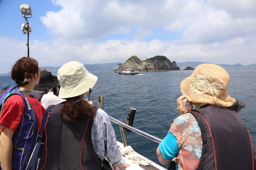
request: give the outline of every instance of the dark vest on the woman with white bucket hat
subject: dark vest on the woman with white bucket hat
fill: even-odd
[[[62,106],[56,105],[49,113],[38,169],[100,169],[92,144],[92,121],[64,123],[59,116]]]

